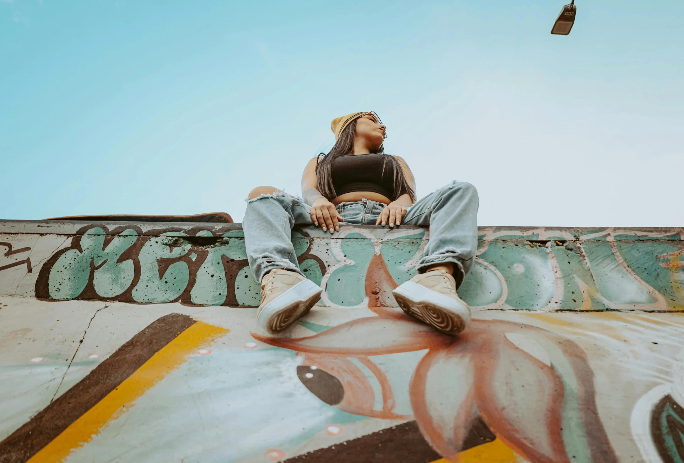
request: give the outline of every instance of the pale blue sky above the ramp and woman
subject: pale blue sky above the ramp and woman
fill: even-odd
[[[684,3],[562,4],[0,0],[0,217],[239,222],[373,110],[481,225],[681,226]]]

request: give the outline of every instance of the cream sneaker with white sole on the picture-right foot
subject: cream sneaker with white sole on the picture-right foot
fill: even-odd
[[[470,307],[460,300],[456,280],[444,270],[418,274],[392,294],[404,312],[441,332],[458,334],[470,323]]]

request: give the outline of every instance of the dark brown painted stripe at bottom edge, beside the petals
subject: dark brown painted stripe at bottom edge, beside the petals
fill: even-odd
[[[409,421],[356,439],[288,458],[282,463],[429,463],[442,458]]]

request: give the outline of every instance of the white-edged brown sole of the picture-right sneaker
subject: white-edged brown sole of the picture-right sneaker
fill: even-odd
[[[408,281],[392,291],[406,315],[446,334],[458,334],[468,326],[471,313],[465,303]]]

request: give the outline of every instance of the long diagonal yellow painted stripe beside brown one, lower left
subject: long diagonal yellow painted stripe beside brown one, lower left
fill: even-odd
[[[209,345],[229,330],[198,321],[176,339],[159,349],[150,360],[124,380],[114,391],[107,394],[79,419],[64,429],[29,460],[29,463],[64,462],[72,451],[83,447],[109,423],[135,405],[135,400],[152,386],[163,380],[168,373],[179,368],[189,355],[202,346]]]

